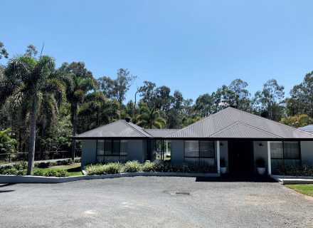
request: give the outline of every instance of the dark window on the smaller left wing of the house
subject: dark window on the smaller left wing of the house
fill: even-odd
[[[97,140],[97,162],[126,162],[127,140]]]

